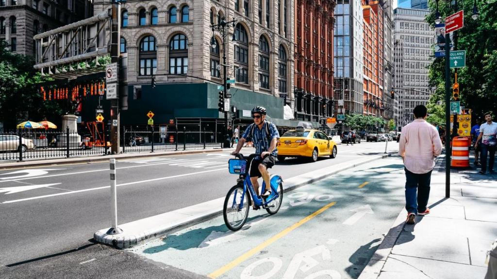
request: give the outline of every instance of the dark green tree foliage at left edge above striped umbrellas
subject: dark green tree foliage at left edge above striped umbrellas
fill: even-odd
[[[41,74],[33,69],[34,59],[7,50],[0,41],[0,122],[5,129],[14,129],[25,120],[41,121],[60,117],[62,110],[55,102],[43,102],[36,84]]]

